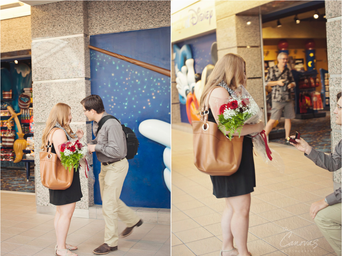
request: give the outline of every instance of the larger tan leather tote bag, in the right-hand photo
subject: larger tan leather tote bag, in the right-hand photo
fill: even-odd
[[[208,121],[209,97],[213,89],[201,106],[201,120],[192,121],[194,163],[201,172],[229,176],[239,169],[244,136],[235,136],[230,141],[216,123]]]

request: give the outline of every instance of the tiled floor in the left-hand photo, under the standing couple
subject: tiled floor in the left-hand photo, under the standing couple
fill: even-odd
[[[56,237],[53,215],[37,214],[32,193],[0,193],[1,197],[1,256],[54,255]],[[119,232],[125,228],[119,222]],[[79,256],[93,255],[103,243],[104,220],[71,219],[67,243],[78,246]],[[134,228],[126,238],[119,238],[118,251],[108,256],[168,256],[170,255],[170,225],[144,223]]]

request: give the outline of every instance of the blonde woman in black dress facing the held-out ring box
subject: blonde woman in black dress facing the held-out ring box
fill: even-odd
[[[246,87],[246,81],[246,62],[239,55],[228,53],[216,63],[214,70],[208,77],[200,100],[202,105],[208,97],[209,91],[214,88],[209,98],[209,122],[218,123],[220,106],[215,103],[217,98],[222,101],[230,98],[236,88],[239,86]],[[213,194],[216,198],[225,198],[225,208],[221,219],[223,244],[220,255],[222,256],[250,255],[247,249],[247,235],[251,203],[250,193],[254,191],[253,188],[255,187],[255,169],[253,144],[248,134],[261,132],[263,127],[262,122],[255,125],[246,124],[242,127],[241,136],[244,136],[242,158],[236,173],[231,176],[210,176]],[[233,135],[238,136],[239,134],[236,132]],[[233,246],[233,238],[238,250]]]

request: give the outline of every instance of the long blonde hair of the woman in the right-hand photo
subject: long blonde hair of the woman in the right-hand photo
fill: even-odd
[[[204,87],[200,106],[201,108],[203,101],[205,101],[207,94],[211,88],[218,85],[222,80],[225,81],[229,88],[233,91],[244,83],[244,72],[246,72],[246,61],[241,56],[228,53],[216,62],[214,70],[208,77],[208,82]]]

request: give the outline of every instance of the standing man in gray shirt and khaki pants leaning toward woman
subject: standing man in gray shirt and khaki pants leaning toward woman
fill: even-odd
[[[143,224],[142,220],[120,200],[123,182],[128,172],[126,137],[121,124],[116,119],[108,119],[98,131],[98,123],[107,116],[103,102],[98,95],[90,95],[81,101],[83,112],[94,121],[93,133],[96,136],[88,144],[89,151],[96,152],[101,162],[101,172],[98,175],[102,198],[102,213],[105,220],[104,243],[97,247],[94,254],[107,254],[118,250],[118,217],[127,228],[121,233],[126,237],[134,227]]]

